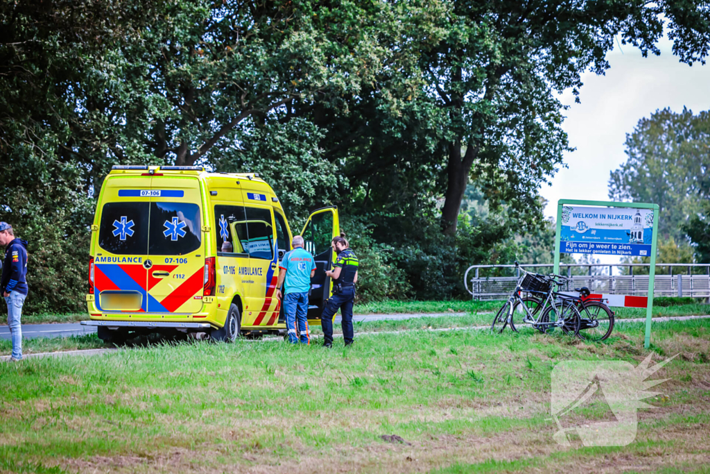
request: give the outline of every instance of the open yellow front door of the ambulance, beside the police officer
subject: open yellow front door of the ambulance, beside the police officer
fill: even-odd
[[[310,324],[320,324],[320,315],[333,291],[333,282],[325,275],[325,271],[332,270],[336,257],[330,244],[333,237],[340,235],[338,208],[332,206],[313,211],[301,235],[305,240],[304,248],[314,257],[316,266],[308,297],[308,321]]]

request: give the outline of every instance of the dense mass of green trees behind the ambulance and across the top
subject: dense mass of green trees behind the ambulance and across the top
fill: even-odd
[[[508,263],[501,216],[546,226],[557,92],[617,38],[658,54],[665,28],[688,64],[710,45],[697,0],[2,0],[0,20],[0,219],[53,252],[45,274],[84,271],[111,165],[198,163],[263,173],[290,217],[339,205],[395,296],[455,296],[461,266]],[[486,217],[459,215],[469,185]],[[82,301],[58,278],[39,285],[70,288],[55,306]]]

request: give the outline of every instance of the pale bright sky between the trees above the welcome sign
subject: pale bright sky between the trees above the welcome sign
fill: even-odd
[[[692,67],[672,55],[672,43],[659,44],[660,56],[643,58],[631,45],[619,45],[608,53],[611,68],[606,75],[587,72],[582,79],[579,99],[569,90],[562,103],[571,106],[563,128],[570,146],[564,163],[540,193],[547,199],[546,217],[557,217],[557,200],[609,200],[609,173],[626,162],[624,142],[638,121],[657,109],[674,112],[688,107],[695,114],[710,109],[710,63]],[[622,52],[623,51],[623,52]],[[581,257],[574,254],[575,259]],[[595,255],[603,264],[619,262],[619,257]],[[618,269],[614,269],[616,274]]]

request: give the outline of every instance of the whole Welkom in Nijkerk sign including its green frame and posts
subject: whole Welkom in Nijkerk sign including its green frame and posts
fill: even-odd
[[[648,348],[651,342],[658,209],[657,204],[574,199],[557,201],[556,274],[559,274],[561,252],[650,257],[645,348]]]

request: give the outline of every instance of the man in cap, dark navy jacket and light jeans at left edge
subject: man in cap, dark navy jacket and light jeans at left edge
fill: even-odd
[[[27,241],[16,239],[12,226],[0,222],[0,247],[5,247],[0,291],[7,303],[7,325],[12,338],[10,360],[22,360],[22,305],[27,297]]]

